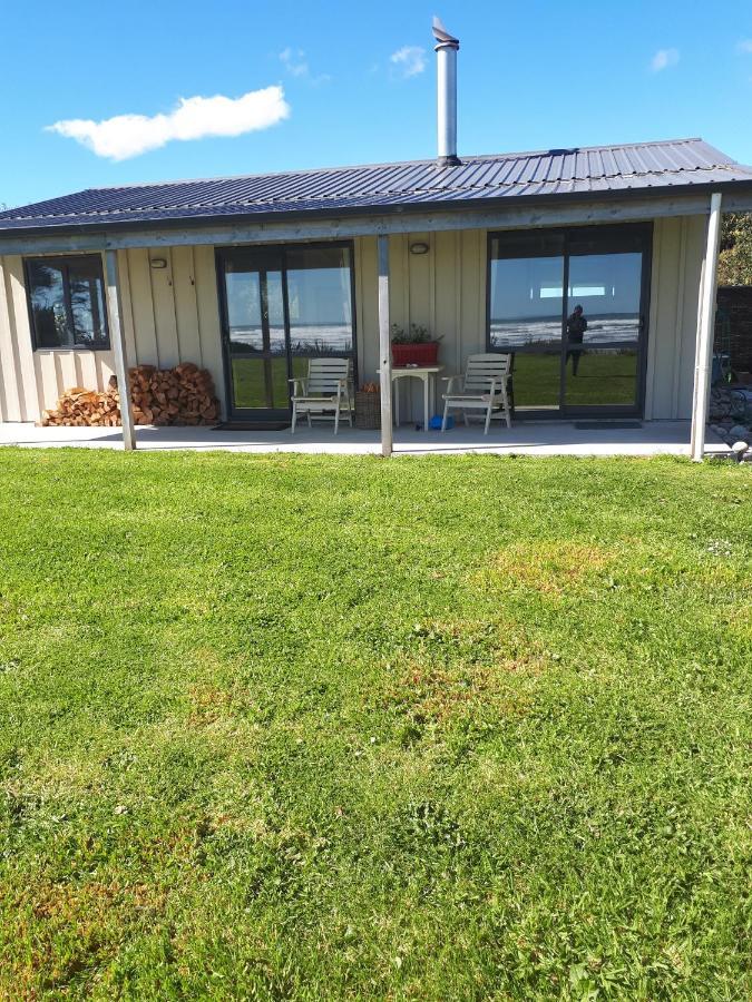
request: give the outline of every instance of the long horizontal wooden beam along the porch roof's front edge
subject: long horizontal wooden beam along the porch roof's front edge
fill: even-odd
[[[751,193],[730,193],[724,208],[727,212],[752,210]],[[312,216],[254,222],[252,217],[238,223],[216,220],[185,225],[146,228],[111,229],[81,223],[76,232],[0,234],[0,254],[76,253],[135,247],[198,246],[291,243],[295,240],[349,239],[358,236],[379,236],[403,233],[431,233],[457,229],[527,229],[540,226],[577,226],[603,223],[626,223],[666,216],[707,215],[707,196],[703,194],[558,202],[546,199],[508,206],[462,209],[400,209],[382,215]],[[88,224],[90,226],[90,224]]]

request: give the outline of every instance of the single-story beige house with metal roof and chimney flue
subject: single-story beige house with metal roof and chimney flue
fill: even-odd
[[[381,377],[389,414],[389,332],[418,324],[447,372],[512,354],[516,420],[694,419],[702,453],[720,214],[752,209],[752,168],[702,139],[458,157],[459,43],[437,40],[436,159],[0,213],[0,420],[195,362],[226,420],[279,422],[289,377],[326,354]]]

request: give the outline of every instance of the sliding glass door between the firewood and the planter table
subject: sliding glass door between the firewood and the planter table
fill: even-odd
[[[229,418],[283,422],[310,358],[355,365],[349,244],[217,252]]]

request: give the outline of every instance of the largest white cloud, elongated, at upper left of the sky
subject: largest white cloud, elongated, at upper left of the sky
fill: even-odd
[[[102,121],[71,118],[47,126],[98,157],[127,160],[173,139],[203,139],[207,136],[241,136],[267,129],[287,118],[290,105],[281,87],[251,90],[238,98],[180,98],[167,115],[116,115]]]

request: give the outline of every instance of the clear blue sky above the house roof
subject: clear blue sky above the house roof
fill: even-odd
[[[0,4],[0,204],[431,157],[433,13],[461,41],[460,155],[700,135],[752,164],[749,0],[37,0]]]

